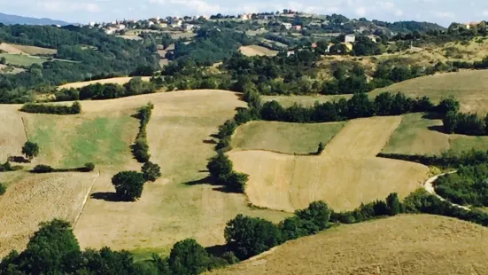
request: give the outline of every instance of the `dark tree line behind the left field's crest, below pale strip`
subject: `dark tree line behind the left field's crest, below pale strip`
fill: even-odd
[[[95,83],[78,89],[62,89],[55,93],[55,100],[70,101],[125,98],[154,92],[156,92],[156,87],[153,83],[144,82],[140,76],[135,76],[123,86],[115,83]]]

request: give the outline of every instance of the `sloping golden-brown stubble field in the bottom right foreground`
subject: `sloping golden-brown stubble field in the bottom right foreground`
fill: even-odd
[[[444,216],[395,216],[291,240],[212,274],[488,274],[488,230]]]

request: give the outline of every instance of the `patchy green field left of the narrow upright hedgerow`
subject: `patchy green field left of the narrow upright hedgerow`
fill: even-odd
[[[68,116],[29,116],[29,139],[40,146],[39,161],[63,168],[84,163],[120,165],[130,157],[137,122],[128,116],[84,119]],[[133,133],[134,132],[134,133]],[[123,138],[122,138],[123,137]]]

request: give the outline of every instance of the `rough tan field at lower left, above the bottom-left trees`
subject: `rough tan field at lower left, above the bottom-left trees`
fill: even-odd
[[[24,175],[0,198],[0,257],[12,249],[23,250],[41,222],[59,218],[74,223],[98,177],[95,173],[16,173]]]

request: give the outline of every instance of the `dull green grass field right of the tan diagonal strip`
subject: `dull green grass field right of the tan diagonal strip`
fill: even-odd
[[[442,131],[441,120],[426,118],[425,114],[405,114],[382,153],[434,155],[447,150],[488,150],[488,137],[448,135]]]

